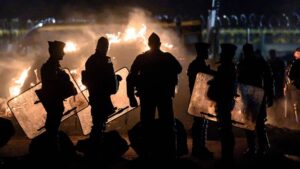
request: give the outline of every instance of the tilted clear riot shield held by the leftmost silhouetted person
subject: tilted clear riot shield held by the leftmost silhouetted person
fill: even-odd
[[[65,111],[61,121],[64,121],[68,117],[80,112],[88,106],[86,97],[80,92],[80,89],[72,78],[70,71],[67,69],[65,69],[65,71],[71,77],[70,79],[76,87],[78,94],[65,99]],[[30,139],[45,131],[44,125],[46,122],[46,110],[36,95],[36,91],[41,89],[41,87],[42,84],[38,83],[7,102],[11,112],[14,114],[25,134]]]

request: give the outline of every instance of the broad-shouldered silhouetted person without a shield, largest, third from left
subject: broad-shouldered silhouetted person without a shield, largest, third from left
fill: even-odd
[[[151,143],[147,136],[152,132],[151,126],[155,120],[156,108],[158,117],[166,126],[168,142],[162,153],[156,154],[164,158],[175,156],[174,112],[172,97],[175,94],[175,86],[178,82],[178,74],[182,67],[176,58],[167,52],[160,50],[160,38],[152,33],[148,39],[150,50],[140,54],[134,60],[127,77],[127,95],[131,107],[137,106],[135,90],[140,98],[141,125],[144,128],[144,147],[149,149]],[[147,152],[145,152],[147,153]]]

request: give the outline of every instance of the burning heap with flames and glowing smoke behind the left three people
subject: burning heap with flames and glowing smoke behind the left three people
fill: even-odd
[[[113,59],[115,70],[118,70],[122,67],[130,68],[133,59],[149,49],[147,39],[152,32],[160,35],[162,50],[170,51],[175,56],[186,55],[183,44],[175,32],[162,28],[141,10],[134,10],[130,14],[128,24],[58,24],[44,26],[28,33],[22,40],[22,50],[19,53],[14,52],[14,57],[3,61],[3,64],[11,64],[8,71],[13,73],[10,80],[4,82],[7,83],[7,87],[1,88],[5,91],[1,93],[8,94],[0,96],[0,116],[11,116],[6,105],[8,99],[39,82],[39,69],[48,58],[47,41],[66,42],[64,49],[66,55],[62,67],[70,69],[80,89],[84,90],[80,72],[84,69],[86,59],[94,53],[100,36],[109,39],[108,55]]]

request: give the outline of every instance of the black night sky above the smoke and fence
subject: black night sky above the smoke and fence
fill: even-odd
[[[68,12],[95,13],[103,9],[141,7],[153,14],[207,14],[211,0],[0,0],[0,18],[62,17]],[[221,14],[279,14],[300,9],[299,0],[221,0]]]

